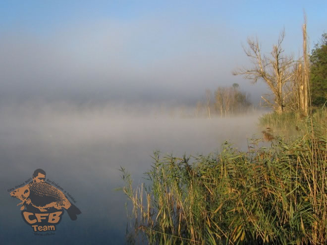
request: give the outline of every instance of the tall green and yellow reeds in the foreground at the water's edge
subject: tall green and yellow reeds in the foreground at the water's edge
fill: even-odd
[[[155,152],[134,188],[122,169],[133,206],[128,242],[149,244],[326,244],[326,127],[304,119],[285,143],[266,138],[240,152],[227,142],[219,154],[163,156]]]

